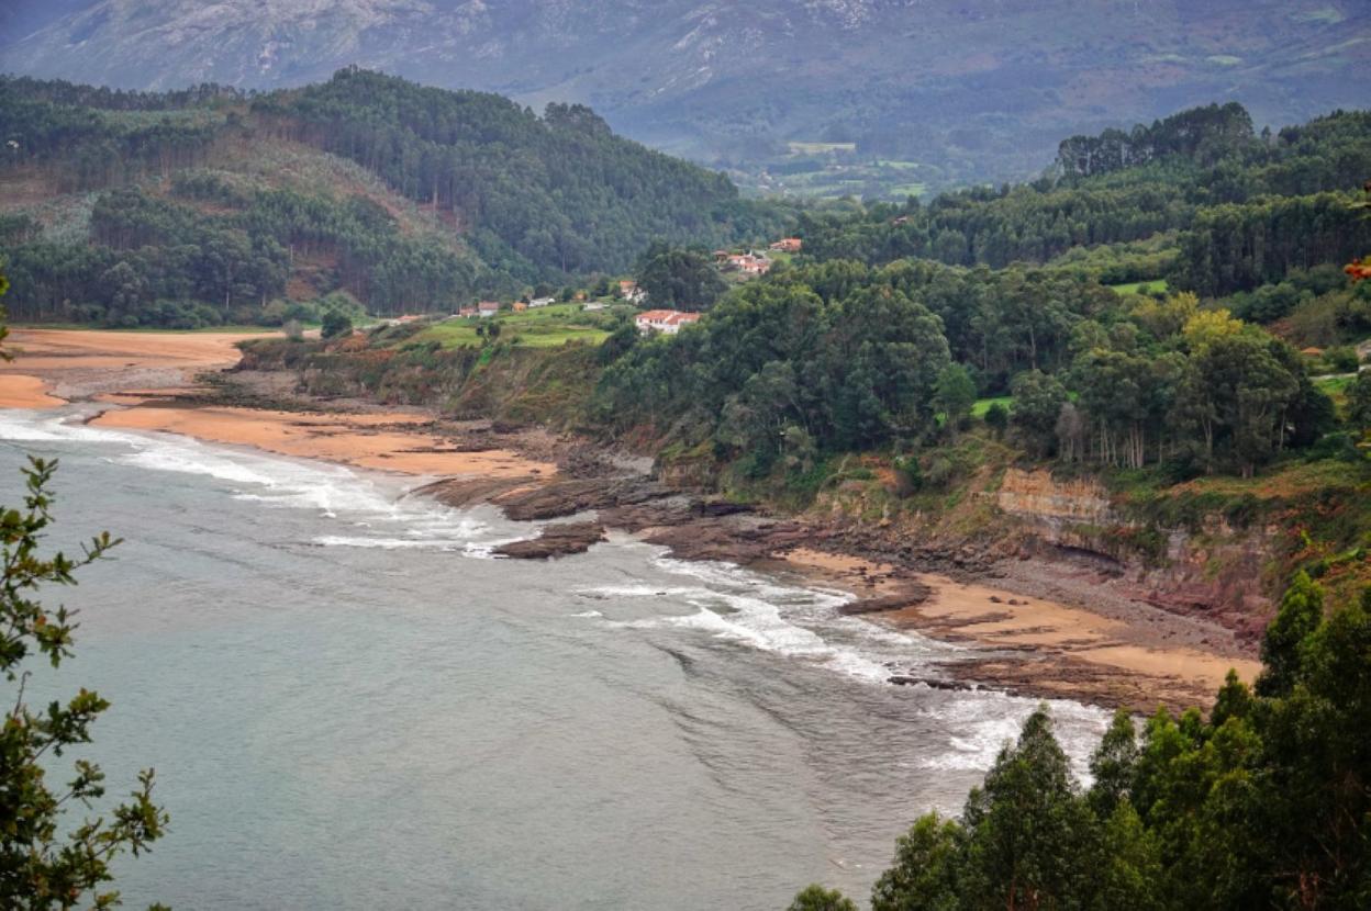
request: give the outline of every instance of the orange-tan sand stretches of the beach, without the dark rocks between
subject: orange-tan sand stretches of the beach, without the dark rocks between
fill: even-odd
[[[233,366],[236,342],[251,337],[16,330],[10,345],[16,358],[0,366],[0,407],[95,400],[114,405],[93,419],[97,426],[178,433],[459,482],[488,481],[505,497],[557,488],[548,485],[561,477],[562,451],[553,442],[531,453],[518,437],[474,436],[432,414],[358,403],[324,411],[299,400],[288,407],[300,410],[287,411],[204,401],[195,375]],[[869,622],[968,645],[965,659],[938,669],[958,685],[1149,711],[1158,703],[1208,707],[1230,667],[1248,681],[1260,670],[1220,627],[1142,603],[1091,608],[1089,579],[1075,579],[1049,600],[1026,593],[1026,586],[1016,590],[1013,578],[954,579],[810,545],[784,548],[757,566],[849,590],[862,606],[854,612]],[[893,669],[893,677],[899,674]]]

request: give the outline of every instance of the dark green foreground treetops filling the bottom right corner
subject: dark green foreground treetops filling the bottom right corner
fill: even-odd
[[[1371,589],[1324,616],[1298,574],[1263,662],[1208,719],[1158,710],[1139,732],[1117,714],[1086,789],[1034,712],[958,819],[898,840],[872,908],[1371,907]],[[843,901],[812,886],[791,907]]]

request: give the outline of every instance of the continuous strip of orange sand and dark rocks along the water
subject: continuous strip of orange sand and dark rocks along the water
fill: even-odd
[[[932,669],[893,669],[894,684],[987,688],[1135,712],[1158,703],[1204,711],[1228,667],[1249,682],[1259,670],[1250,651],[1216,623],[1100,599],[1101,579],[1087,569],[1061,567],[1047,581],[1027,571],[1043,567],[1021,560],[968,562],[935,547],[921,558],[894,558],[864,547],[851,529],[666,488],[642,460],[627,464],[581,440],[443,421],[418,408],[319,401],[293,390],[293,374],[221,374],[222,386],[191,385],[193,374],[234,366],[233,344],[244,337],[251,336],[158,333],[130,345],[122,333],[15,330],[10,349],[18,356],[0,366],[0,407],[64,404],[52,390],[110,405],[90,419],[95,426],[437,477],[420,492],[452,507],[489,503],[515,521],[551,522],[506,556],[579,553],[607,530],[622,530],[679,559],[725,560],[849,592],[856,600],[845,614],[969,649]],[[587,514],[595,518],[584,521]]]

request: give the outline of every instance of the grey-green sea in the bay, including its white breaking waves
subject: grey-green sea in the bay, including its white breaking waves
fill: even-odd
[[[629,540],[491,559],[531,527],[407,496],[413,478],[78,416],[0,411],[0,501],[26,453],[59,456],[52,542],[126,540],[48,593],[81,610],[77,658],[30,695],[114,703],[90,753],[111,793],[156,767],[171,827],[121,867],[130,907],[864,897],[1032,708],[883,684],[953,647],[798,579]],[[1053,711],[1083,756],[1104,715]]]

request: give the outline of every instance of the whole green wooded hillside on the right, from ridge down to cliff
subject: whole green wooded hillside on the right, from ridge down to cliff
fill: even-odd
[[[802,214],[803,256],[618,356],[587,419],[666,471],[943,540],[1004,532],[971,497],[1010,466],[1089,477],[1113,518],[1053,540],[1139,570],[1281,515],[1298,534],[1233,558],[1348,595],[1371,579],[1371,282],[1346,271],[1371,118],[1257,137],[1204,108],[1139,138],[1091,177]]]

